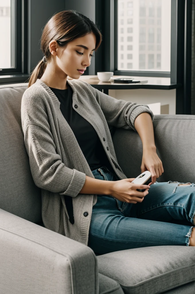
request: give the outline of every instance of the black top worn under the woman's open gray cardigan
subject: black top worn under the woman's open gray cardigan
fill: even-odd
[[[114,173],[112,166],[107,158],[102,143],[93,128],[93,126],[78,114],[72,107],[73,90],[68,85],[65,90],[49,87],[60,101],[60,110],[72,129],[78,144],[93,171],[102,166],[106,166],[112,173]],[[65,204],[67,207],[69,220],[74,223],[72,197],[65,196]]]

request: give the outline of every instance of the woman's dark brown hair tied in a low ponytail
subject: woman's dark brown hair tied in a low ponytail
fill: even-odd
[[[51,61],[49,51],[51,40],[56,40],[58,45],[65,49],[70,41],[90,33],[96,36],[96,51],[102,42],[102,34],[92,20],[75,10],[64,10],[54,14],[44,26],[41,36],[41,51],[46,57],[46,63],[42,59],[38,62],[29,78],[28,88],[36,82],[37,78],[43,76],[47,62]]]

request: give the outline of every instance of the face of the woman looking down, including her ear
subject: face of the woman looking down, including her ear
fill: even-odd
[[[78,79],[83,72],[79,69],[86,69],[91,64],[93,51],[95,50],[96,37],[93,33],[70,41],[66,48],[61,48],[58,43],[52,40],[49,43],[50,52],[56,58],[55,73]],[[80,47],[83,45],[86,48]]]

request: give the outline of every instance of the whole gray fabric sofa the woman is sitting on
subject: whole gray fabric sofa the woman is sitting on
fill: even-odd
[[[88,246],[44,227],[41,189],[31,176],[21,128],[21,98],[27,86],[0,86],[0,293],[195,293],[192,246],[144,247],[97,256]],[[157,181],[194,183],[195,116],[155,115],[153,125],[164,167]],[[138,176],[138,133],[116,129],[112,139],[127,178]]]

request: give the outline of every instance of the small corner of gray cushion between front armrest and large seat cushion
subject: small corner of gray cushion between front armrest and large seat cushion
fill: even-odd
[[[121,286],[115,280],[99,273],[99,294],[124,294]]]

